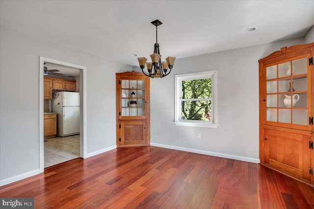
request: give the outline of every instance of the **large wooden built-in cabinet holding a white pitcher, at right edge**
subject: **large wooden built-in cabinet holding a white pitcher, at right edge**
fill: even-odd
[[[260,160],[314,185],[314,43],[283,47],[260,63]]]

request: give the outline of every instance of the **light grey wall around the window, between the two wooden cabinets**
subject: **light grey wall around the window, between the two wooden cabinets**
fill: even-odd
[[[177,59],[172,75],[151,79],[151,144],[258,163],[258,60],[303,42],[294,39]],[[218,71],[218,128],[176,126],[174,75],[208,70]]]

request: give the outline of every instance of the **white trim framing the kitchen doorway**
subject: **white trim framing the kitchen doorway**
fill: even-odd
[[[39,170],[44,172],[44,62],[64,65],[79,69],[79,92],[80,92],[80,157],[87,158],[87,120],[86,120],[86,67],[72,63],[54,60],[47,57],[39,57]]]

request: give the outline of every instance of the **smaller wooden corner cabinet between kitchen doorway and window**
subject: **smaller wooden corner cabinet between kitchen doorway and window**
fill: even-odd
[[[116,73],[117,147],[150,144],[150,77]]]

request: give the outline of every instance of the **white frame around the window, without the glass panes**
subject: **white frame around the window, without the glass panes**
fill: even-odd
[[[182,120],[181,119],[181,101],[182,101],[182,81],[211,78],[211,121],[198,120]],[[218,127],[217,115],[217,70],[186,73],[175,75],[175,120],[174,123],[180,126],[194,126],[194,127]]]

